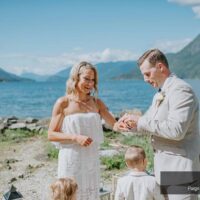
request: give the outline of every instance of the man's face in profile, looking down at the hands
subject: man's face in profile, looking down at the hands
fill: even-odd
[[[155,66],[149,63],[148,60],[145,60],[140,65],[140,71],[144,77],[144,81],[152,85],[154,88],[159,88],[165,81],[163,76],[163,64],[158,62]]]

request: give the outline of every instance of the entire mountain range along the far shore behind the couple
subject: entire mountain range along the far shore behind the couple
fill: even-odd
[[[181,78],[200,79],[200,34],[181,51],[177,53],[166,54],[169,66],[172,72]],[[136,61],[118,61],[97,63],[98,76],[101,80],[119,80],[119,79],[142,79],[139,67]],[[71,67],[52,76],[40,76],[32,73],[23,74],[22,77],[37,81],[66,81],[69,78]],[[23,80],[14,74],[5,74],[0,69],[0,81],[2,80]],[[6,79],[5,79],[5,77]],[[25,79],[27,80],[27,79]]]

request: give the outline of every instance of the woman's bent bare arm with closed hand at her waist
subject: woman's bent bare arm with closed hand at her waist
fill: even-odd
[[[67,106],[68,101],[65,99],[65,97],[61,97],[56,101],[49,124],[48,139],[52,142],[60,142],[63,144],[78,143],[82,146],[90,145],[92,139],[87,136],[61,132],[61,125],[64,119],[63,110]]]

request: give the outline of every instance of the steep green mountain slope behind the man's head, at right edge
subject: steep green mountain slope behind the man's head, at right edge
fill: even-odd
[[[171,71],[181,78],[200,79],[200,34],[181,51],[167,54]]]

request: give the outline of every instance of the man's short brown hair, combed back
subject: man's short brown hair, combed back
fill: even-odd
[[[152,66],[155,66],[157,62],[163,63],[167,68],[169,68],[169,64],[165,54],[160,51],[159,49],[150,49],[146,51],[139,59],[138,59],[138,66],[141,66],[142,63],[148,60]]]

